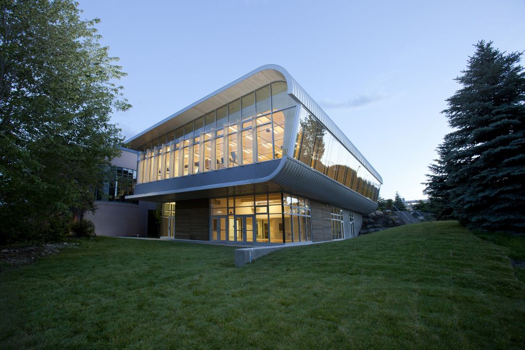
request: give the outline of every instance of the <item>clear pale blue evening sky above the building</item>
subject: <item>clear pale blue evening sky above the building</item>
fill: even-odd
[[[144,5],[147,4],[147,5]],[[523,1],[80,0],[120,57],[126,138],[265,65],[308,91],[382,175],[380,195],[424,198],[450,131],[445,99],[478,40],[525,50]],[[522,62],[522,65],[524,63]]]

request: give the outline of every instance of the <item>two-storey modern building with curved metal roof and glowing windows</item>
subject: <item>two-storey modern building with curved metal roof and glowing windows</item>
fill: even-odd
[[[364,128],[364,127],[363,127]],[[266,65],[127,140],[130,200],[161,236],[282,244],[356,236],[381,176],[288,71]]]

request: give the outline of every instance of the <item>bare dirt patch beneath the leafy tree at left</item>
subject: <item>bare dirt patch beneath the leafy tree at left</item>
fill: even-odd
[[[25,246],[20,248],[2,248],[0,250],[0,261],[7,266],[17,267],[34,262],[39,256],[53,255],[61,249],[77,246],[79,243],[48,243],[44,245]],[[2,270],[5,264],[0,265]]]

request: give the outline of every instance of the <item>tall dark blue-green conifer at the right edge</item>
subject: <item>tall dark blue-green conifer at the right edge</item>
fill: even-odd
[[[522,53],[506,54],[481,41],[469,57],[463,86],[443,113],[455,131],[428,191],[449,192],[453,215],[468,228],[525,231],[525,73]],[[434,180],[434,181],[433,181]],[[445,181],[440,188],[439,181]],[[437,181],[438,183],[436,184]]]

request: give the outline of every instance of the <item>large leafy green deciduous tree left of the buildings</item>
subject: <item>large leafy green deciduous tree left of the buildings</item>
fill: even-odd
[[[130,107],[117,58],[99,44],[99,19],[71,0],[0,5],[0,222],[2,239],[53,239],[119,155],[114,110]],[[100,168],[100,166],[102,166]]]

